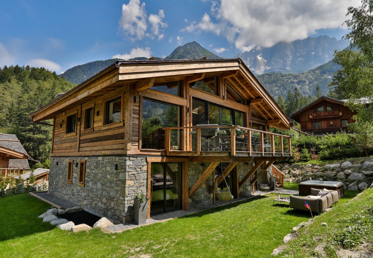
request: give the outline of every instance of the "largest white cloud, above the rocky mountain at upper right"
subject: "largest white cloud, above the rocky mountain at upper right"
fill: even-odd
[[[358,0],[222,0],[211,1],[216,21],[205,13],[200,22],[191,22],[181,31],[212,32],[222,35],[235,47],[247,51],[255,45],[270,47],[280,41],[307,38],[317,29],[341,28],[347,7]]]

